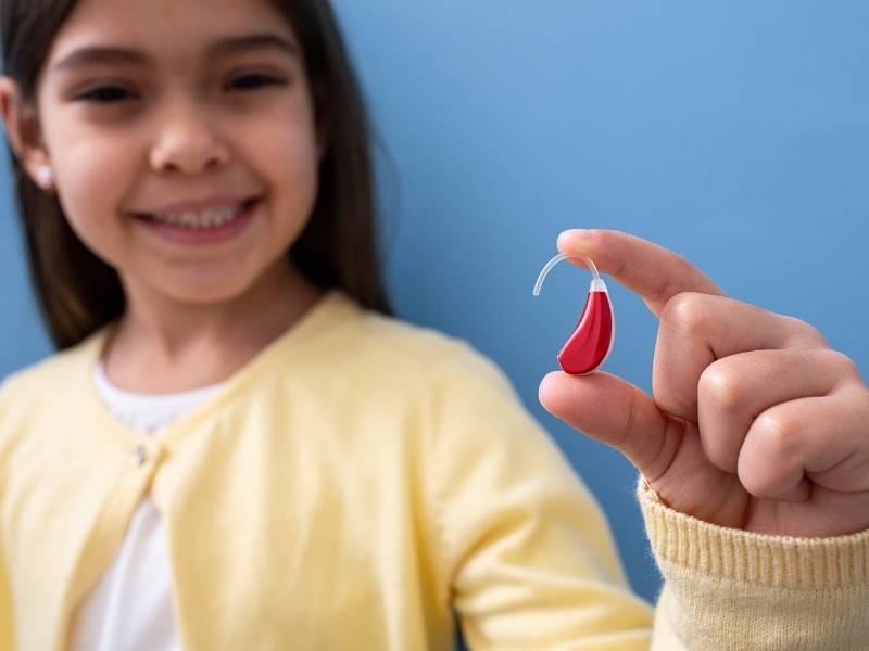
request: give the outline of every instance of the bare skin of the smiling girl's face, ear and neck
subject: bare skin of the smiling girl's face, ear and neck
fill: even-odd
[[[213,39],[250,33],[277,34],[297,53],[206,54]],[[55,68],[98,44],[150,63]],[[320,298],[286,257],[313,209],[327,138],[301,52],[265,0],[83,0],[52,43],[35,106],[0,79],[17,158],[34,180],[51,166],[46,190],[121,277],[128,309],[103,352],[121,387],[164,393],[225,380]],[[171,243],[129,216],[223,194],[262,197],[230,242]]]

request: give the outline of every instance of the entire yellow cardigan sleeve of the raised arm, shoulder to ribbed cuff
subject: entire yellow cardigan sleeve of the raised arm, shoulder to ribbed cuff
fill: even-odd
[[[869,532],[807,540],[720,527],[668,508],[641,478],[665,578],[653,613],[629,590],[593,497],[498,367],[475,355],[440,366],[426,484],[471,649],[866,649]]]

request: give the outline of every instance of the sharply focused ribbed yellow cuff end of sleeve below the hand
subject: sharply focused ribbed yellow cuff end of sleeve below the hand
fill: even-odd
[[[642,477],[638,496],[666,579],[653,651],[869,644],[869,531],[810,539],[753,534],[670,509]]]

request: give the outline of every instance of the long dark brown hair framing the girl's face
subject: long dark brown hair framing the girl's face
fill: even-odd
[[[317,108],[328,115],[330,141],[319,165],[319,189],[307,227],[287,252],[323,289],[342,289],[364,307],[391,315],[377,246],[371,128],[362,91],[326,0],[270,0],[292,25]],[[2,0],[3,74],[33,104],[52,40],[76,0]],[[70,228],[55,196],[24,173],[10,148],[30,279],[58,349],[80,342],[118,317],[125,297],[117,272]]]

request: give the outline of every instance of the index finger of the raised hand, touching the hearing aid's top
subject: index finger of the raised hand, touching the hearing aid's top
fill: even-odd
[[[572,229],[558,235],[558,251],[585,255],[600,271],[637,292],[655,316],[681,292],[723,296],[725,292],[679,254],[635,235],[605,229]]]

